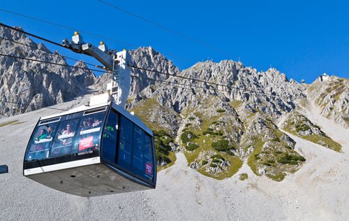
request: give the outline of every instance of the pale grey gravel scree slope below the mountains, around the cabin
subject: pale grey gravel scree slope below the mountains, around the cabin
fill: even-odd
[[[86,99],[78,99],[82,104]],[[70,108],[77,101],[61,104]],[[311,111],[310,111],[311,110]],[[0,220],[346,220],[349,217],[349,130],[304,109],[309,119],[341,143],[343,152],[288,134],[306,157],[297,173],[277,183],[255,176],[246,165],[222,181],[202,176],[177,153],[174,166],[158,173],[156,190],[114,194],[90,199],[51,190],[22,176],[22,161],[41,109],[0,119],[21,124],[0,127]],[[248,173],[248,180],[239,180]]]

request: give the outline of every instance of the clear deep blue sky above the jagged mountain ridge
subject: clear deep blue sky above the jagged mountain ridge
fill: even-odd
[[[117,50],[151,45],[179,69],[207,59],[240,59],[258,71],[272,66],[288,78],[307,83],[324,72],[349,78],[347,1],[105,1],[195,41],[98,0],[2,1],[0,8],[131,43],[83,34],[85,42],[96,45],[101,40]],[[57,42],[73,34],[70,29],[3,11],[0,22]],[[58,50],[62,55],[97,63],[84,55]]]

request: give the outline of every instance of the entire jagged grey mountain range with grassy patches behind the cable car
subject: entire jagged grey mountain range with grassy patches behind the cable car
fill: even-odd
[[[23,34],[0,31],[3,54],[67,64],[58,52]],[[154,130],[159,169],[172,165],[173,151],[180,151],[188,166],[218,180],[247,164],[256,175],[281,181],[306,160],[287,133],[341,150],[295,109],[315,100],[322,115],[345,126],[348,79],[305,85],[276,69],[257,71],[231,60],[198,62],[179,71],[151,47],[130,54],[135,68],[126,107]],[[84,62],[70,68],[0,57],[0,64],[1,100],[21,103],[0,102],[3,116],[71,100],[86,93],[87,87],[104,92],[110,79],[108,73],[97,78]]]

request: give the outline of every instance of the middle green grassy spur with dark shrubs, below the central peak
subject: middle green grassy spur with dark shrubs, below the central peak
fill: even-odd
[[[233,176],[241,168],[242,160],[239,159],[239,157],[232,156],[228,153],[230,152],[228,150],[232,148],[232,145],[226,145],[226,142],[229,144],[229,141],[221,141],[225,138],[225,136],[223,136],[223,131],[221,129],[212,129],[229,125],[227,122],[220,120],[223,115],[226,115],[226,113],[217,112],[213,117],[206,116],[205,113],[202,112],[192,113],[195,115],[193,120],[195,118],[200,119],[200,125],[192,124],[189,127],[186,127],[179,137],[184,145],[184,148],[187,150],[187,144],[195,144],[195,150],[184,151],[184,155],[188,160],[188,165],[192,162],[197,162],[198,172],[202,173],[204,176],[209,176],[218,180],[223,180],[224,178]],[[227,127],[227,131],[225,132],[230,133],[231,131],[228,130],[228,126],[225,127]],[[232,129],[232,131],[234,130]],[[212,145],[213,143],[215,144]],[[198,145],[197,148],[196,145]],[[209,155],[210,157],[208,156],[207,158],[202,158],[201,153],[216,150],[214,146],[221,152],[214,155]],[[212,170],[216,171],[213,172]]]

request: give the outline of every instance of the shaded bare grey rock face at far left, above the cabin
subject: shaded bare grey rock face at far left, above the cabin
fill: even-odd
[[[67,65],[58,52],[50,52],[45,45],[36,44],[18,31],[0,27],[0,36],[1,54]],[[82,87],[67,66],[0,56],[0,116],[62,103],[79,93]]]

